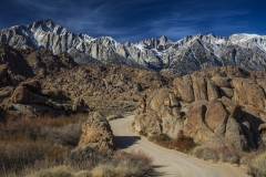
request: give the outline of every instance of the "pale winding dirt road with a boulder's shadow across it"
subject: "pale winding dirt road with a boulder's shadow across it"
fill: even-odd
[[[140,137],[131,131],[134,116],[111,121],[116,147],[125,152],[144,152],[153,158],[154,174],[172,177],[247,177],[245,169],[229,164],[213,164],[167,149]]]

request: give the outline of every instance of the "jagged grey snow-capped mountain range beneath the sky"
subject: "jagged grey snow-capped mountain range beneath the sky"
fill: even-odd
[[[168,73],[191,73],[208,66],[236,65],[250,70],[266,66],[266,35],[228,38],[187,35],[173,42],[166,37],[119,43],[110,37],[74,34],[52,20],[38,20],[0,31],[0,41],[13,48],[66,51],[78,63],[129,64]]]

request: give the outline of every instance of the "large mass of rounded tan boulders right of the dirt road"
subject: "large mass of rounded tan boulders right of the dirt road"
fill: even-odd
[[[266,144],[266,82],[238,74],[221,67],[175,79],[172,88],[141,100],[135,131],[150,137],[185,135],[212,148],[246,150]]]

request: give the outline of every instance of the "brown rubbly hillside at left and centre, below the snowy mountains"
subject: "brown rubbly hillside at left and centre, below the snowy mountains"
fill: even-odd
[[[133,111],[142,94],[172,76],[126,65],[78,65],[68,53],[16,50],[0,43],[1,114],[72,114]]]

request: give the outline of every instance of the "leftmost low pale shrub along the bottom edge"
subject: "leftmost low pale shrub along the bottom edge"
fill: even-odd
[[[74,177],[68,166],[55,166],[43,169],[37,174],[38,177]]]

